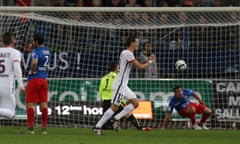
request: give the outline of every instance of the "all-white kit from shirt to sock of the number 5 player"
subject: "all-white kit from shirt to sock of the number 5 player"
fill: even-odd
[[[13,62],[21,61],[21,53],[11,47],[0,48],[0,116],[15,115],[15,72]]]

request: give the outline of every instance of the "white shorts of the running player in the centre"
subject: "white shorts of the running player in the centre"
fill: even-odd
[[[122,99],[130,100],[137,98],[136,94],[128,87],[121,86],[119,88],[113,88],[112,103],[115,105],[120,105]]]

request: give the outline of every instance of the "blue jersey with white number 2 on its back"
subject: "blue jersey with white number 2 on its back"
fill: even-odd
[[[31,62],[38,59],[36,73],[28,76],[28,80],[34,78],[47,78],[47,70],[50,62],[50,51],[47,47],[38,47],[31,52]],[[31,63],[32,65],[32,63]]]

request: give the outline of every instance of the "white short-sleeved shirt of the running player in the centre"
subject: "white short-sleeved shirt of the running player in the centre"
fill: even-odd
[[[123,50],[121,52],[118,75],[116,80],[114,81],[113,87],[127,86],[129,75],[132,69],[132,62],[134,62],[135,60],[136,59],[133,52],[129,50]]]

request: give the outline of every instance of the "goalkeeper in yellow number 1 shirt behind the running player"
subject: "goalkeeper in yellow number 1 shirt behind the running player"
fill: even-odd
[[[109,65],[109,69],[110,69],[110,72],[101,78],[101,82],[100,82],[100,86],[99,86],[99,95],[102,100],[103,112],[105,112],[111,106],[112,84],[113,84],[113,81],[117,77],[118,63],[111,62]],[[126,101],[122,101],[122,104],[116,113],[120,112],[125,105],[126,105]],[[128,114],[125,118],[127,120],[130,120],[130,122],[133,124],[133,126],[136,127],[138,130],[146,130],[146,131],[151,130],[151,128],[149,128],[149,127],[140,126],[138,120],[136,119],[136,117],[133,114]],[[113,125],[113,123],[109,120],[105,125],[103,125],[103,128],[104,129],[113,129],[112,125]]]

